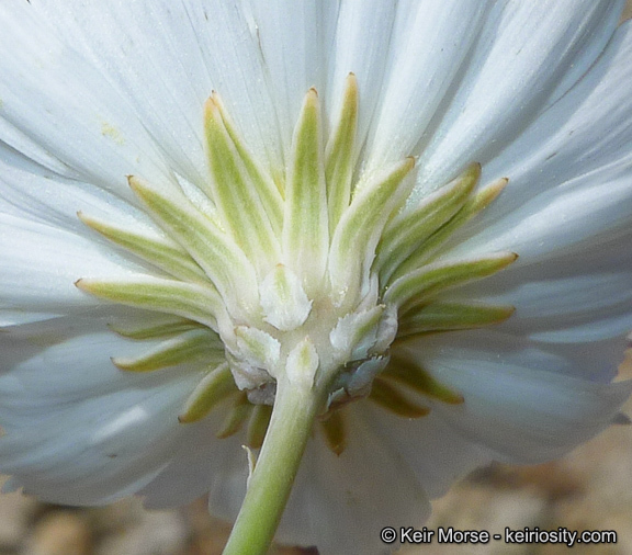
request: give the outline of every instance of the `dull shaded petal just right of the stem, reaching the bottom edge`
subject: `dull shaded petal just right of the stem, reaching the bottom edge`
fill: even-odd
[[[354,407],[346,411],[349,440],[335,455],[315,434],[298,471],[278,540],[317,545],[323,555],[388,551],[380,530],[390,523],[418,526],[429,505],[388,433]]]

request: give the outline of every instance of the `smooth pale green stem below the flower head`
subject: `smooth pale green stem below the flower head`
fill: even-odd
[[[286,380],[276,384],[270,426],[224,555],[267,553],[321,403],[314,389],[302,390]]]

